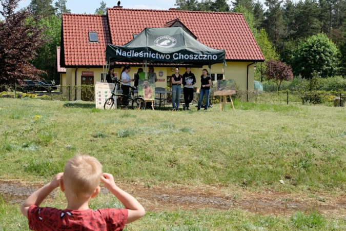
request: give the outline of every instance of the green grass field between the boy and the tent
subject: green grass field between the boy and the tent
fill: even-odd
[[[198,112],[195,107],[104,111],[87,102],[0,99],[0,180],[44,184],[63,171],[67,159],[85,153],[95,156],[116,183],[138,188],[221,187],[221,195],[266,190],[344,194],[344,108],[236,101],[234,112],[227,106],[222,112],[218,105]],[[19,204],[3,197],[0,230],[28,230]],[[118,205],[108,194],[92,203],[93,208]],[[64,208],[64,195],[59,192],[45,205]],[[345,228],[344,216],[313,210],[283,216],[214,208],[147,210],[127,226],[179,231]]]

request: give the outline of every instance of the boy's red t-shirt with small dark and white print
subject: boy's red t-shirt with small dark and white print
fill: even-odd
[[[128,216],[125,208],[70,210],[31,205],[28,210],[29,228],[42,231],[103,231],[123,230]]]

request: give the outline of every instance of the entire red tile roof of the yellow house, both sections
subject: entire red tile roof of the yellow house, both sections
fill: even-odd
[[[105,65],[108,44],[124,45],[144,28],[167,27],[177,18],[199,42],[225,49],[227,61],[264,61],[240,13],[108,8],[107,15],[63,14],[61,49],[64,55],[60,64],[67,67]],[[89,42],[89,31],[97,32],[98,43]]]

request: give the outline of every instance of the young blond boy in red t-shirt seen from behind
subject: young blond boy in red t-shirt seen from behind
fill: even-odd
[[[92,210],[89,201],[100,191],[100,180],[125,208]],[[67,208],[38,207],[54,188],[65,192]],[[64,172],[26,199],[21,211],[31,230],[123,230],[125,224],[144,216],[144,208],[127,192],[118,188],[111,174],[102,172],[94,157],[75,156],[67,161]]]

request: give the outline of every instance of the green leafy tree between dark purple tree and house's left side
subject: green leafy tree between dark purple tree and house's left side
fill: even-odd
[[[56,66],[56,47],[60,46],[62,21],[57,16],[42,18],[38,25],[45,27],[43,38],[49,40],[43,46],[36,50],[37,56],[32,64],[45,73],[40,74],[46,80],[58,80]]]

